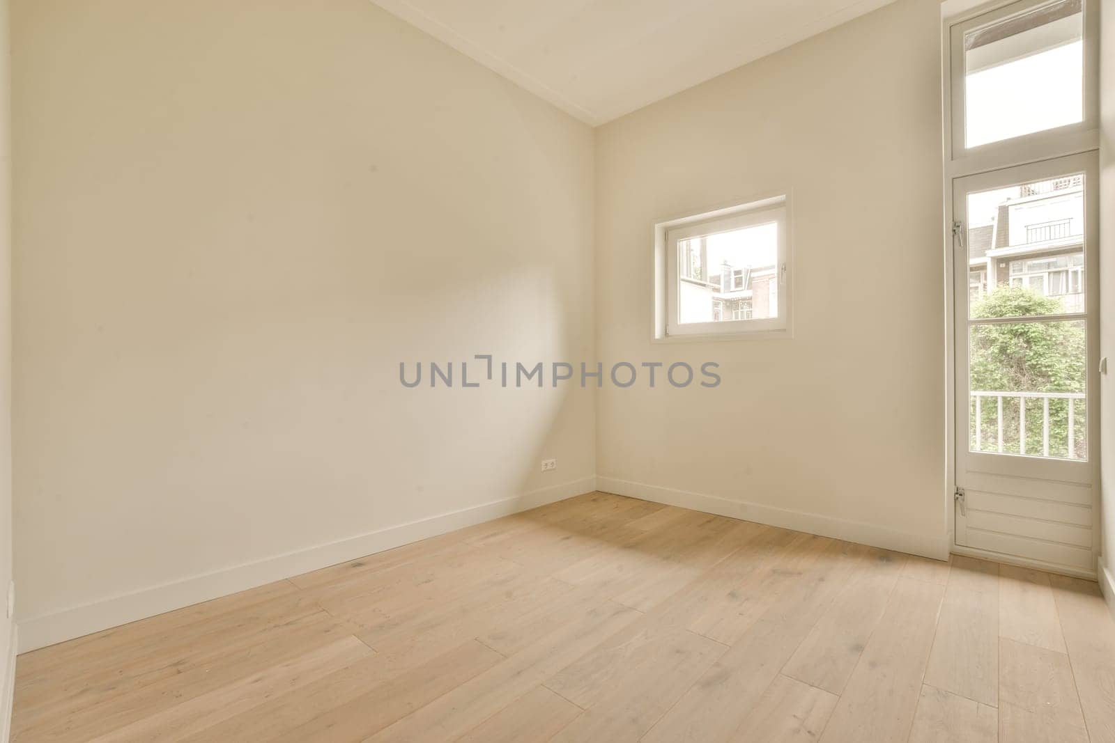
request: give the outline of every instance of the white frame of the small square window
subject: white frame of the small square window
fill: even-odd
[[[793,239],[789,202],[787,189],[775,196],[689,214],[655,225],[653,340],[701,341],[792,336]],[[685,324],[678,322],[678,242],[769,223],[778,225],[778,250],[775,262],[778,316]],[[731,276],[729,285],[734,285]]]

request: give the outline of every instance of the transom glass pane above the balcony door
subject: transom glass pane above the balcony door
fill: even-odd
[[[964,35],[964,145],[1084,118],[1082,0],[1058,0]]]

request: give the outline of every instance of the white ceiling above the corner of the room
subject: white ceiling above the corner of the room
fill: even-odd
[[[372,0],[590,125],[892,0]]]

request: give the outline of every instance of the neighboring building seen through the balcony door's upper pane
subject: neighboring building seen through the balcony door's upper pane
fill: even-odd
[[[998,205],[991,224],[968,231],[968,292],[1026,286],[1084,312],[1084,180],[1029,184]]]

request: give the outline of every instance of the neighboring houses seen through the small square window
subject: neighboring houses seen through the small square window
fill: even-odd
[[[754,320],[778,316],[778,284],[775,266],[734,266],[727,262],[706,275],[701,238],[680,246],[678,307],[681,322]]]

